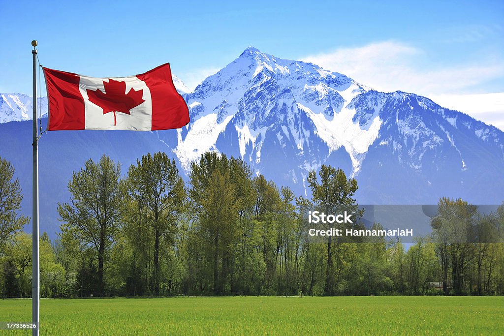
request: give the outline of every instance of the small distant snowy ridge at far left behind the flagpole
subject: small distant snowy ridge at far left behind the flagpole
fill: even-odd
[[[32,119],[32,97],[19,93],[0,94],[0,123]],[[47,116],[47,97],[39,98],[39,115]]]

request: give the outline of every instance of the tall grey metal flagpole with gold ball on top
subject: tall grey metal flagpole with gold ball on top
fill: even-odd
[[[38,131],[37,131],[37,46],[36,40],[32,41],[33,54],[33,217],[32,217],[32,335],[38,336],[39,308],[40,308],[40,270],[39,270],[39,228],[38,228]]]

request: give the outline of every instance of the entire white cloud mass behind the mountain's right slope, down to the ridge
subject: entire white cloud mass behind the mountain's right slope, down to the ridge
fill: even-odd
[[[479,61],[450,66],[429,65],[427,52],[395,41],[308,55],[303,60],[347,75],[373,89],[413,92],[439,105],[468,113],[504,130],[504,93],[464,94],[486,82],[504,78],[504,62]],[[481,89],[478,91],[481,92]]]

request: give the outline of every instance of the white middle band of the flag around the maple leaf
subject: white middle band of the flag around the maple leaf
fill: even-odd
[[[103,109],[89,100],[87,90],[96,91],[99,89],[105,93],[103,81],[110,79],[117,82],[124,82],[126,90],[124,94],[142,90],[144,100],[140,105],[132,108],[130,114],[115,112],[116,125],[114,126],[114,112],[103,114]],[[151,130],[152,128],[152,99],[151,93],[144,81],[135,76],[112,77],[108,79],[80,76],[79,91],[84,98],[85,129],[125,129],[125,130]]]

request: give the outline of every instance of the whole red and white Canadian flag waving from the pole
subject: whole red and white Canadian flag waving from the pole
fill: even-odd
[[[44,69],[48,130],[180,128],[189,111],[166,63],[145,74],[93,78]]]

